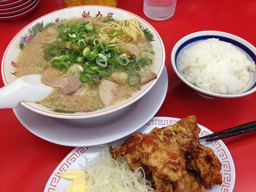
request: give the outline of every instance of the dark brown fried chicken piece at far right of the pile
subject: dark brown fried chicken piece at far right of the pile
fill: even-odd
[[[214,150],[199,144],[186,155],[186,169],[199,173],[199,180],[203,186],[211,189],[213,185],[221,185],[221,162],[214,154]]]

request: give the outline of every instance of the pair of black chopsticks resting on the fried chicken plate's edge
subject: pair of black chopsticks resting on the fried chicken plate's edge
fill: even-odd
[[[255,131],[255,130],[256,130],[256,121],[253,121],[250,123],[245,123],[243,125],[238,125],[238,126],[232,127],[227,130],[219,131],[217,133],[205,135],[204,137],[201,137],[199,139],[206,139],[205,141],[214,141],[217,139],[233,137],[235,135],[248,133],[248,132]]]

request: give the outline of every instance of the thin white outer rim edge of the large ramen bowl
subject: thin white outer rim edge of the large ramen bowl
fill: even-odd
[[[38,0],[39,1],[39,0]],[[53,11],[53,12],[50,12],[50,13],[47,13],[45,15],[43,15],[42,17],[39,17],[37,18],[36,20],[30,22],[27,26],[25,26],[23,29],[21,29],[17,35],[15,35],[12,39],[12,41],[9,43],[9,45],[7,46],[6,50],[8,50],[10,48],[10,46],[12,45],[13,41],[20,35],[20,33],[22,33],[22,31],[26,30],[29,26],[33,25],[33,23],[36,23],[42,19],[44,19],[45,17],[49,17],[49,15],[53,14],[53,13],[57,13],[57,12],[61,12],[63,10],[76,10],[77,8],[79,9],[82,9],[83,7],[91,7],[90,9],[95,9],[95,8],[102,8],[106,10],[117,10],[118,12],[125,12],[125,14],[128,14],[128,15],[131,15],[132,17],[135,17],[135,18],[138,18],[139,20],[141,20],[140,22],[143,22],[145,23],[145,25],[147,25],[148,27],[151,28],[151,30],[154,31],[155,35],[157,35],[157,41],[158,41],[158,44],[161,45],[161,48],[162,48],[162,57],[161,57],[161,64],[159,64],[159,67],[157,67],[156,71],[157,71],[157,78],[154,79],[153,81],[151,81],[150,83],[146,84],[145,85],[145,88],[143,89],[144,91],[142,91],[141,93],[137,94],[137,95],[134,95],[133,97],[131,97],[129,100],[125,100],[125,102],[122,103],[122,105],[117,105],[117,106],[113,106],[109,109],[106,109],[106,110],[103,110],[103,111],[98,111],[96,110],[95,113],[90,113],[90,114],[86,114],[86,113],[80,113],[80,114],[60,114],[60,113],[55,113],[54,111],[52,112],[49,112],[49,111],[46,111],[44,110],[43,108],[39,107],[35,107],[35,104],[33,104],[34,102],[21,102],[21,105],[25,106],[26,108],[36,112],[36,113],[39,113],[39,114],[42,114],[42,115],[45,115],[45,116],[50,116],[50,117],[55,117],[55,118],[66,118],[66,119],[81,119],[81,118],[93,118],[93,117],[99,117],[99,116],[102,116],[102,115],[105,115],[105,114],[109,114],[109,113],[113,113],[115,111],[118,111],[120,109],[123,109],[127,106],[130,106],[132,103],[134,103],[135,101],[139,100],[141,97],[143,97],[143,95],[145,95],[154,85],[155,83],[157,82],[157,80],[159,79],[159,76],[162,74],[162,71],[164,69],[164,66],[165,66],[165,47],[164,47],[164,43],[162,41],[162,38],[161,36],[158,34],[158,32],[156,31],[156,29],[150,25],[149,22],[147,22],[145,19],[139,17],[139,15],[135,14],[135,13],[132,13],[130,11],[126,11],[126,10],[123,10],[123,9],[119,9],[117,7],[110,7],[110,6],[105,6],[105,5],[78,5],[78,6],[73,6],[73,7],[66,7],[66,8],[63,8],[63,9],[60,9],[60,10],[56,10],[56,11]],[[70,17],[68,17],[70,18]],[[5,77],[5,74],[4,74],[4,61],[5,61],[5,58],[6,58],[6,53],[7,51],[4,52],[4,55],[3,55],[3,60],[2,60],[2,78],[3,78],[3,82],[4,84],[8,84],[7,83],[7,79]],[[30,105],[31,104],[31,105]]]

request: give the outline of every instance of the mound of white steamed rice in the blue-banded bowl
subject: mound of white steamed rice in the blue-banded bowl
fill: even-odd
[[[242,92],[255,71],[255,63],[243,52],[216,38],[198,42],[185,50],[178,65],[191,84],[220,94]]]

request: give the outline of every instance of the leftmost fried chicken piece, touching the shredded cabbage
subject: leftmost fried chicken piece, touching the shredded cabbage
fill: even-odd
[[[117,155],[124,156],[127,163],[129,164],[131,171],[137,170],[142,167],[146,175],[150,175],[151,171],[146,165],[141,162],[140,155],[137,151],[137,146],[139,145],[140,139],[144,136],[143,133],[134,133],[132,137],[127,139],[121,146],[113,149],[109,147],[111,156],[116,159]]]

